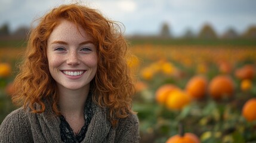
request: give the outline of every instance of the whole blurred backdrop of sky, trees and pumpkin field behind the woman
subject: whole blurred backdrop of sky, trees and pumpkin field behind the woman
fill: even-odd
[[[79,2],[123,24],[141,142],[256,142],[256,1],[0,1],[0,123],[36,19]],[[181,128],[183,127],[183,128]],[[185,133],[185,134],[184,134]],[[186,134],[190,133],[190,134]],[[191,135],[192,134],[192,135]]]

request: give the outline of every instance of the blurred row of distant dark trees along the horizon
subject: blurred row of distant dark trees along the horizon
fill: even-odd
[[[8,23],[0,26],[0,38],[27,38],[29,27],[18,27],[14,32],[10,32]],[[133,35],[132,38],[150,37],[150,38],[174,38],[171,34],[168,23],[163,23],[159,35]],[[243,33],[236,32],[235,29],[227,29],[222,35],[218,35],[211,24],[206,23],[202,26],[198,33],[193,33],[191,29],[187,29],[181,38],[185,39],[256,39],[256,25],[248,27]]]

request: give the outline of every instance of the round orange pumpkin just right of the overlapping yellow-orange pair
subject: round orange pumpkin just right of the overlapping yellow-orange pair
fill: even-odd
[[[192,77],[186,85],[186,92],[194,99],[201,99],[206,94],[207,80],[203,76]]]

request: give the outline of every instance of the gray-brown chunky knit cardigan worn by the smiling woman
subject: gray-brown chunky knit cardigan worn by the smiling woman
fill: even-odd
[[[18,108],[10,113],[0,126],[0,142],[62,142],[60,119],[51,105],[44,113],[29,113]],[[94,116],[82,142],[139,142],[138,118],[130,114],[119,119],[116,127],[107,120],[107,110],[92,103]]]

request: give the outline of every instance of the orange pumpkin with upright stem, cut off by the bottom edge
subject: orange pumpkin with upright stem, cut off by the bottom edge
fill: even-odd
[[[171,136],[165,143],[199,143],[200,139],[194,133],[184,133],[180,126],[180,133]]]

